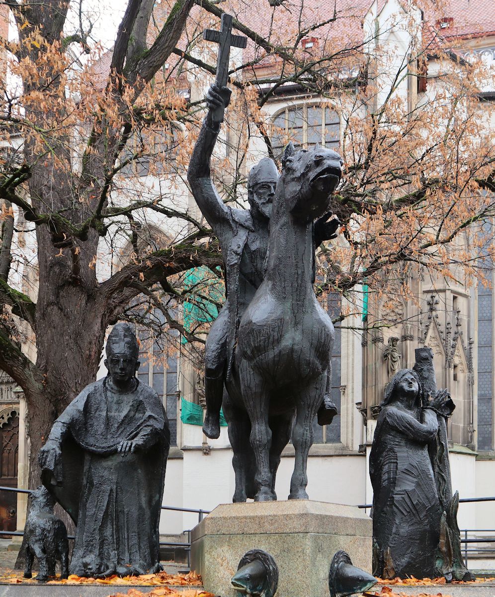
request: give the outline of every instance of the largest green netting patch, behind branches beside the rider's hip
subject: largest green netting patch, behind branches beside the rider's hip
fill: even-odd
[[[184,328],[194,333],[198,325],[218,316],[216,304],[225,300],[224,283],[208,267],[193,267],[185,273],[184,290]],[[182,336],[181,342],[185,344],[187,339]]]

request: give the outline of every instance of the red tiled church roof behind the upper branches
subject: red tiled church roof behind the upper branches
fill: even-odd
[[[377,11],[380,13],[386,0],[378,0]],[[162,0],[154,8],[154,27],[150,27],[149,43],[157,35],[159,28],[168,16],[174,0]],[[234,2],[233,2],[234,4]],[[298,30],[307,29],[307,35],[314,37],[317,44],[312,51],[318,51],[325,45],[332,43],[341,47],[352,47],[363,41],[363,19],[369,11],[372,0],[286,0],[277,7],[271,7],[268,0],[236,0],[236,8],[227,2],[222,2],[219,8],[233,14],[237,20],[246,24],[249,29],[267,39],[275,47],[287,44],[287,39],[296,39]],[[417,0],[421,7],[422,0]],[[405,8],[405,7],[404,7]],[[187,27],[178,46],[185,48],[191,39],[200,36],[206,27],[214,24],[215,17],[206,13],[199,6],[194,6],[188,19]],[[442,21],[448,21],[448,27],[441,27]],[[313,29],[315,23],[323,23]],[[441,4],[430,4],[424,7],[423,20],[423,48],[428,53],[440,49],[459,47],[454,39],[465,39],[488,35],[495,32],[495,1],[494,0],[444,0]],[[299,43],[299,45],[301,45]],[[212,48],[213,50],[213,48]],[[302,51],[302,50],[301,50]],[[248,40],[245,50],[245,61],[256,60],[256,67],[267,67],[274,62],[274,57],[267,55],[252,40]],[[104,81],[109,72],[112,52],[101,57],[97,68],[97,76]],[[178,57],[171,56],[171,67],[176,64]],[[214,64],[212,53],[209,63]]]

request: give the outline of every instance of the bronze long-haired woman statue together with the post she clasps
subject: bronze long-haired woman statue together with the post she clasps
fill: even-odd
[[[432,376],[431,350],[417,349],[414,370],[385,390],[370,453],[375,576],[471,579],[450,489],[445,421],[455,407]]]

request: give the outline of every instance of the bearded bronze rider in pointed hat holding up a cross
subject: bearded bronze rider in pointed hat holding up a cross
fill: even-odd
[[[221,31],[206,30],[205,39],[220,44],[216,82],[208,91],[208,114],[194,147],[187,178],[194,198],[222,247],[227,272],[227,300],[209,331],[205,347],[206,417],[203,431],[212,439],[220,435],[219,413],[224,395],[224,381],[231,376],[233,346],[240,318],[262,282],[268,248],[268,226],[279,172],[270,158],[262,159],[248,176],[249,210],[224,204],[210,175],[210,159],[225,108],[230,102],[227,84],[230,45],[246,47],[245,38],[231,33],[232,17],[222,16]],[[338,220],[327,222],[326,214],[315,223],[314,245],[335,238]],[[314,269],[314,267],[313,267]],[[318,423],[327,425],[337,414],[330,398],[331,379],[318,410]]]

